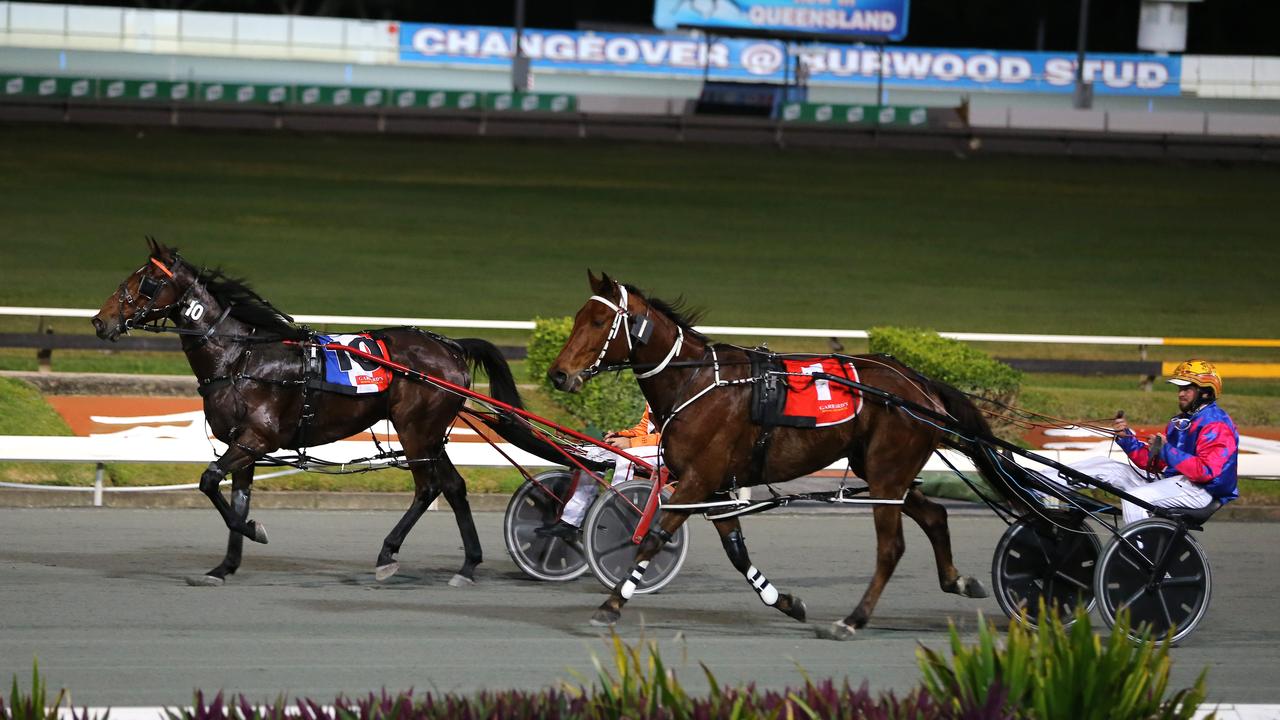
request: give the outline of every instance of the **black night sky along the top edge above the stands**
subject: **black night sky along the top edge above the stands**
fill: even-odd
[[[72,0],[74,1],[74,0]],[[230,13],[511,26],[513,0],[92,0]],[[1133,53],[1139,0],[1091,0],[1088,49]],[[1079,0],[911,0],[902,45],[993,50],[1075,50]],[[653,0],[526,0],[526,26],[637,31]],[[1190,5],[1187,54],[1280,55],[1280,0],[1203,0]]]

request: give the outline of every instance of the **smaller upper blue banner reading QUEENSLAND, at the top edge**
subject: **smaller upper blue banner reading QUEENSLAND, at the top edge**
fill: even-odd
[[[653,24],[906,37],[908,0],[655,0]]]

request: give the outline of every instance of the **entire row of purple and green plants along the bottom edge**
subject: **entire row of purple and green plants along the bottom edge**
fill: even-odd
[[[1048,615],[1053,618],[1052,615]],[[609,662],[594,659],[594,682],[545,691],[485,691],[471,694],[370,693],[338,697],[332,705],[283,698],[259,705],[244,696],[209,702],[197,692],[191,707],[165,712],[168,720],[1089,720],[1189,719],[1204,700],[1204,674],[1196,685],[1165,700],[1170,659],[1166,646],[1130,643],[1128,619],[1110,638],[1089,628],[1078,611],[1070,629],[1050,619],[1038,630],[1012,623],[1005,638],[980,621],[968,647],[951,626],[951,657],[922,648],[922,687],[904,697],[873,696],[864,683],[813,682],[799,689],[760,691],[754,684],[722,685],[704,665],[705,696],[691,694],[667,667],[657,646],[628,646],[613,635]],[[45,688],[33,670],[32,693],[17,679],[10,705],[0,698],[0,720],[55,720],[59,696],[46,710]],[[64,692],[65,694],[65,692]],[[72,720],[93,719],[84,711]]]

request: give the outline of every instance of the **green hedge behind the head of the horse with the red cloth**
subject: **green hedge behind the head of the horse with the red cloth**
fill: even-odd
[[[576,393],[561,392],[547,379],[547,369],[573,331],[573,318],[535,318],[529,340],[529,379],[547,389],[552,400],[577,418],[589,433],[630,428],[644,411],[644,395],[630,372],[598,375]]]

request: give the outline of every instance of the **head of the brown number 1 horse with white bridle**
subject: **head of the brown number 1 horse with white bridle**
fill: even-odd
[[[573,316],[568,341],[547,370],[557,389],[577,392],[603,366],[626,363],[643,333],[644,299],[608,274],[590,270],[591,297]],[[643,342],[643,341],[641,341]]]

